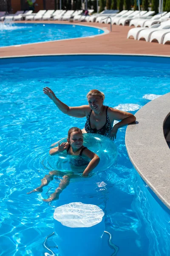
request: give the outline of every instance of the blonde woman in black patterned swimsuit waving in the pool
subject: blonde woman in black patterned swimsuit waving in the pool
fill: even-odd
[[[88,105],[79,107],[68,107],[55,96],[54,92],[48,88],[43,88],[43,92],[55,103],[62,113],[68,116],[85,117],[87,121],[83,133],[102,134],[111,140],[116,139],[117,131],[120,127],[135,122],[136,117],[133,114],[110,108],[103,105],[105,99],[104,93],[99,90],[91,90],[87,94]],[[114,120],[121,120],[113,126]]]

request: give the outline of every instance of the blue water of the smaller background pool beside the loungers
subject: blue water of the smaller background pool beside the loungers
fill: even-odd
[[[0,23],[0,47],[87,37],[102,33],[104,33],[102,29],[79,25]]]

